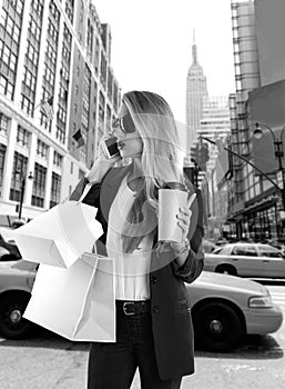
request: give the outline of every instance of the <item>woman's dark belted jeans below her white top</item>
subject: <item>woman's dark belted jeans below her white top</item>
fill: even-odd
[[[88,389],[128,389],[139,367],[142,389],[179,389],[181,378],[159,377],[151,313],[125,316],[116,301],[116,342],[91,343]]]

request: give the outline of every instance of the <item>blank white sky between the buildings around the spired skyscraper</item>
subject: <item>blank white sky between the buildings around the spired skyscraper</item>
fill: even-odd
[[[111,26],[111,66],[122,93],[163,96],[185,122],[193,30],[210,96],[235,91],[231,0],[92,0]]]

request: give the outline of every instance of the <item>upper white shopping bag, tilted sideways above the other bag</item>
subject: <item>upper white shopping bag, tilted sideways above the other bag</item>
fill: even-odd
[[[103,233],[96,211],[85,203],[67,201],[3,235],[14,239],[28,261],[69,267],[83,252],[91,252]]]

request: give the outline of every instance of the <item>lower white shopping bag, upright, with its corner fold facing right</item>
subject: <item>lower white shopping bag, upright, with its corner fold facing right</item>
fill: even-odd
[[[89,253],[68,269],[40,265],[23,317],[70,340],[114,342],[113,267]]]

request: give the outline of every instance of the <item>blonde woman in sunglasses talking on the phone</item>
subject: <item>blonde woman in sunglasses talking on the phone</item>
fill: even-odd
[[[88,388],[130,388],[138,368],[143,389],[180,388],[194,372],[184,282],[203,268],[201,193],[183,176],[175,121],[162,97],[125,93],[113,128],[120,156],[101,152],[71,196],[78,199],[92,183],[83,202],[99,209],[104,235],[96,249],[116,266],[116,341],[91,345]],[[131,163],[114,167],[122,159]],[[157,241],[157,191],[173,184],[197,193],[176,216],[181,243]]]

